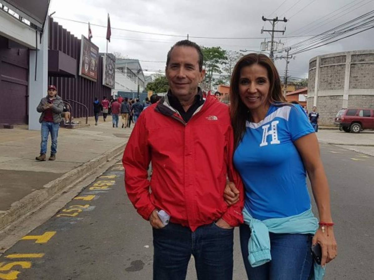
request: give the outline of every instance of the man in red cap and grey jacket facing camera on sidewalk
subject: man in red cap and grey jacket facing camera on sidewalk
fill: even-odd
[[[62,101],[61,97],[57,95],[56,86],[48,86],[47,97],[40,100],[36,110],[39,113],[42,113],[39,118],[39,122],[42,124],[42,128],[40,130],[42,141],[40,143],[40,155],[35,159],[39,161],[46,160],[48,135],[50,133],[52,143],[50,147],[49,160],[55,160],[57,152],[58,129],[61,122],[61,113],[64,110],[64,102]]]

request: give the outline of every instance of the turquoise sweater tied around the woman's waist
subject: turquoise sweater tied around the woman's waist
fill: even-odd
[[[270,237],[272,233],[300,233],[314,235],[318,229],[318,220],[314,217],[312,209],[301,214],[285,218],[272,218],[257,220],[243,209],[244,223],[251,229],[251,237],[248,241],[248,261],[252,267],[257,267],[272,260],[270,255]],[[325,268],[314,262],[313,280],[322,280],[325,276]]]

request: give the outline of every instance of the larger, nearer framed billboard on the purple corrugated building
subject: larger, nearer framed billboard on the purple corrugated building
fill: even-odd
[[[82,35],[80,41],[79,75],[91,81],[97,81],[99,47]]]

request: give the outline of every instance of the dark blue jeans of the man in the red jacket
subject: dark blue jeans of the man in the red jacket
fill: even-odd
[[[173,223],[153,229],[153,280],[186,279],[191,255],[197,279],[232,280],[233,236],[233,229],[222,229],[215,223],[195,232]]]

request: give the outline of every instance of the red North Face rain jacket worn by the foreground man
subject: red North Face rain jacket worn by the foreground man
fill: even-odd
[[[232,158],[233,130],[225,104],[208,96],[185,123],[166,96],[140,114],[126,145],[122,162],[128,197],[145,220],[162,209],[172,223],[192,231],[219,218],[237,226],[243,222],[243,185]],[[240,201],[230,207],[223,199],[227,175],[240,191]]]

